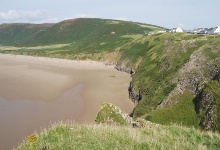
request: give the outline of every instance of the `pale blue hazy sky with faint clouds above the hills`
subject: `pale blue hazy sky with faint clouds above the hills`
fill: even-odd
[[[1,0],[0,23],[120,19],[167,28],[220,26],[220,0]]]

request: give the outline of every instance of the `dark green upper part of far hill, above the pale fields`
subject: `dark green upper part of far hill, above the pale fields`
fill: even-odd
[[[145,27],[146,26],[146,27]],[[3,24],[0,25],[1,45],[37,46],[71,44],[77,41],[112,39],[129,34],[152,31],[153,25],[104,19],[72,19],[56,24]],[[87,42],[89,42],[87,41]],[[109,41],[110,42],[110,41]]]

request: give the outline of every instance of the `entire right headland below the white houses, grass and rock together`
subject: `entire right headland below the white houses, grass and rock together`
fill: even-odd
[[[147,39],[145,59],[133,77],[143,97],[134,116],[220,131],[220,36],[183,33]]]

